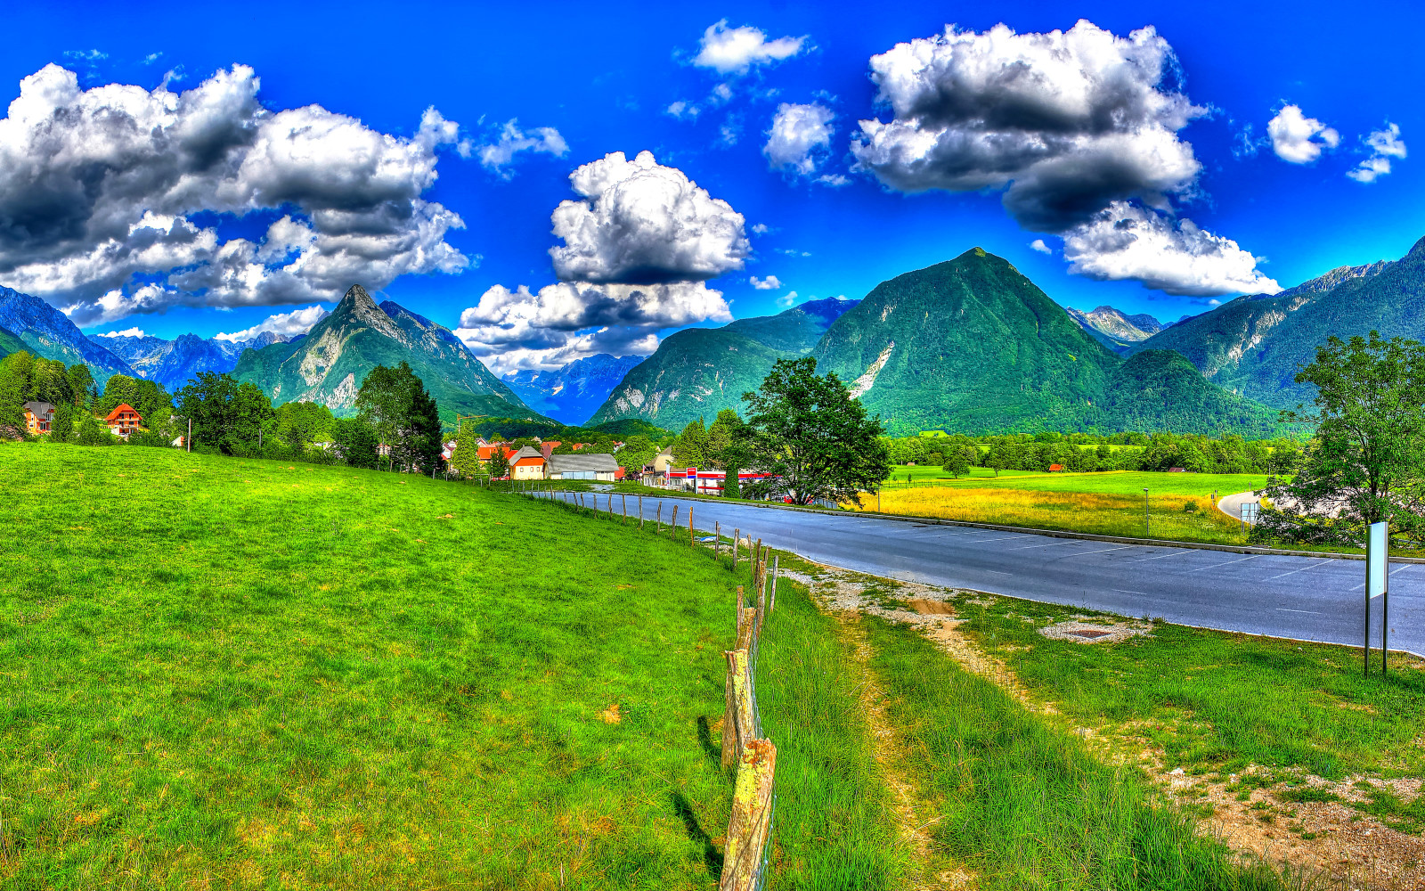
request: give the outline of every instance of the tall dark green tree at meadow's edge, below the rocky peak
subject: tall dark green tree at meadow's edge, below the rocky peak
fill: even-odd
[[[378,365],[356,393],[358,416],[390,446],[390,460],[408,469],[432,469],[440,460],[440,418],[425,383],[400,362]]]

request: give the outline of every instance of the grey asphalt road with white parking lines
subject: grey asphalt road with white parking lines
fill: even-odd
[[[591,498],[591,496],[586,496]],[[673,505],[685,527],[722,525],[818,563],[948,587],[1164,619],[1177,624],[1361,646],[1365,562],[1116,545],[1022,532],[808,513],[714,500],[644,496],[651,520]],[[630,512],[636,499],[630,498]],[[607,496],[600,496],[601,508]],[[620,498],[614,496],[620,510]],[[1425,654],[1425,565],[1391,567],[1392,650]],[[1372,607],[1379,646],[1381,602]]]

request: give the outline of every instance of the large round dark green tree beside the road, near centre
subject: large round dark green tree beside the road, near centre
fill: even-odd
[[[835,374],[817,375],[817,361],[778,359],[755,392],[742,393],[755,431],[758,469],[772,475],[761,489],[809,505],[817,499],[861,503],[891,473],[881,418]]]

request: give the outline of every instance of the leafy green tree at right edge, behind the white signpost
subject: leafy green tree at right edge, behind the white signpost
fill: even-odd
[[[1261,535],[1361,542],[1365,526],[1425,533],[1425,346],[1404,338],[1330,338],[1297,375],[1317,389],[1314,411],[1282,412],[1315,438],[1273,500]],[[1292,527],[1292,529],[1288,529]]]

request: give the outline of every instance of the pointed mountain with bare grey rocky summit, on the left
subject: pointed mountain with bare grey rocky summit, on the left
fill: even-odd
[[[543,418],[447,329],[390,301],[378,307],[361,285],[306,336],[244,351],[232,374],[261,386],[276,405],[321,402],[349,415],[366,372],[402,361],[425,382],[446,423],[455,423],[456,413]]]

